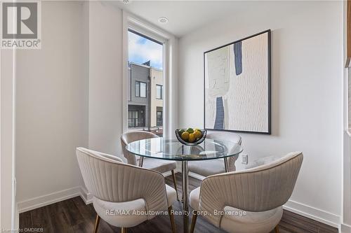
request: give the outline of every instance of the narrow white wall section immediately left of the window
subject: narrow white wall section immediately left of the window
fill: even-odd
[[[121,156],[122,13],[89,3],[89,148]]]

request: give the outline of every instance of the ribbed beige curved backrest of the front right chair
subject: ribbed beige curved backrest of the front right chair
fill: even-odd
[[[302,162],[302,153],[289,153],[253,169],[208,176],[201,182],[199,210],[213,213],[232,206],[260,212],[282,206],[291,197]],[[205,218],[219,227],[221,216]]]

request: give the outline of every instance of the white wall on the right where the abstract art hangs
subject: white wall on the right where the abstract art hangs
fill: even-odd
[[[333,225],[342,205],[342,25],[341,1],[248,2],[179,42],[179,126],[201,127],[203,52],[272,29],[272,135],[241,134],[244,153],[252,161],[303,151],[288,205]]]

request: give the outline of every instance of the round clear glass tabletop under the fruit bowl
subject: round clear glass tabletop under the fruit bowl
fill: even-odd
[[[238,155],[242,147],[231,141],[205,139],[197,146],[185,146],[177,139],[143,139],[126,146],[130,153],[160,160],[213,160]]]

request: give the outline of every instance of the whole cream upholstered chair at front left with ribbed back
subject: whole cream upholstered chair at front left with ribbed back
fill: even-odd
[[[176,232],[172,204],[176,190],[164,183],[157,171],[125,164],[118,157],[77,148],[77,160],[88,192],[93,195],[93,206],[98,213],[94,232],[98,231],[100,218],[110,225],[133,227],[166,211]]]

